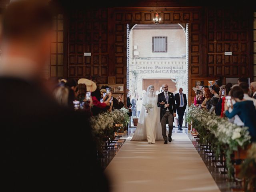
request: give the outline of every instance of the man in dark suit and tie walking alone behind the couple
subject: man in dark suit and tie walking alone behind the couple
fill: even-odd
[[[183,89],[179,89],[179,93],[175,94],[176,110],[178,113],[178,129],[182,130],[183,116],[187,108],[186,94],[182,93]]]

